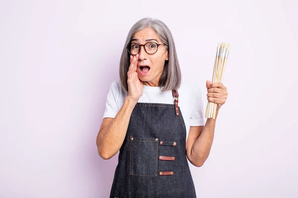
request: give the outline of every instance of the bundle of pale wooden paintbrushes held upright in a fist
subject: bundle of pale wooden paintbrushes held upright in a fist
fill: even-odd
[[[230,45],[226,43],[218,44],[212,83],[219,83],[223,81],[224,70],[227,62],[227,56],[229,53]],[[205,117],[215,119],[216,116],[217,103],[208,101]]]

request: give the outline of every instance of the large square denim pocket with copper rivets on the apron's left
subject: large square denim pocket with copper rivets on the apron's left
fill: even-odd
[[[158,138],[130,136],[129,174],[157,177]]]

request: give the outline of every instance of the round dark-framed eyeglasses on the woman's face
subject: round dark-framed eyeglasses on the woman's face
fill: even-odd
[[[128,52],[130,54],[137,55],[141,49],[141,46],[144,46],[144,49],[148,54],[154,54],[154,53],[156,53],[158,46],[162,46],[162,45],[167,46],[166,44],[157,44],[155,42],[148,42],[145,45],[131,43],[131,44],[127,45],[126,48],[128,49]]]

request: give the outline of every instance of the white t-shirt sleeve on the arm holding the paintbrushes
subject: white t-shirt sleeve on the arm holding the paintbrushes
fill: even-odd
[[[193,92],[195,95],[193,96],[193,110],[190,115],[190,126],[204,126],[204,106],[202,100],[202,93],[200,88],[195,88]]]

